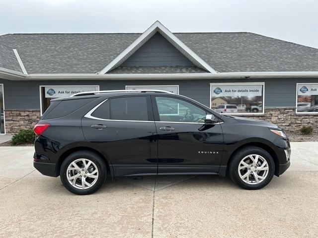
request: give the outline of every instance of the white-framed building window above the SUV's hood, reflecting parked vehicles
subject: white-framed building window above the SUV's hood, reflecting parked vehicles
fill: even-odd
[[[210,108],[221,114],[264,114],[265,83],[211,83]]]

